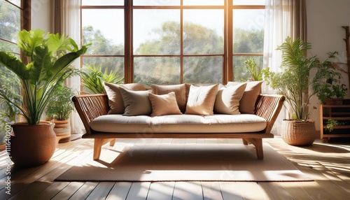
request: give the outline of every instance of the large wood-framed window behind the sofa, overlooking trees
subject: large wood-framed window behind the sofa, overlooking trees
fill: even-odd
[[[83,67],[125,83],[226,83],[262,65],[264,0],[82,0]]]

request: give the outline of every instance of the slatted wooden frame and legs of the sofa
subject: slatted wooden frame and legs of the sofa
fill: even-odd
[[[274,94],[259,94],[255,102],[255,115],[264,118],[267,123],[265,129],[258,132],[228,133],[153,133],[153,134],[135,134],[123,132],[101,132],[94,131],[90,127],[90,122],[101,115],[109,113],[109,99],[107,94],[85,94],[73,97],[73,102],[78,114],[85,126],[86,133],[83,138],[94,138],[94,156],[93,159],[99,159],[102,145],[110,142],[113,146],[116,138],[241,138],[245,145],[249,143],[255,145],[258,159],[263,159],[262,138],[273,138],[270,133],[272,126],[279,115],[285,97]]]

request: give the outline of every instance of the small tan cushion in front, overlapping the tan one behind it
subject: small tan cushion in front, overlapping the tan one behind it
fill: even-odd
[[[151,117],[161,115],[181,115],[181,110],[176,102],[175,92],[169,94],[148,94],[151,104]]]

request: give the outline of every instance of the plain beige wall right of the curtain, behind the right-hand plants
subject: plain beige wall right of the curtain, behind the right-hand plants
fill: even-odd
[[[317,55],[321,60],[327,59],[327,52],[339,52],[336,62],[346,63],[346,48],[343,38],[345,30],[342,26],[350,27],[349,0],[307,0],[307,39],[312,45],[309,54]],[[342,69],[347,71],[346,64]],[[343,74],[344,83],[348,88],[348,75]],[[346,94],[350,98],[350,92]],[[311,99],[311,108],[318,108],[317,97]],[[320,129],[318,109],[312,110],[311,120],[315,120],[316,129]]]

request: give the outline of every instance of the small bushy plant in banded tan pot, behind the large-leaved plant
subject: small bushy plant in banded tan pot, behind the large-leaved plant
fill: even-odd
[[[71,136],[69,115],[75,110],[73,101],[71,101],[71,97],[75,94],[76,92],[71,87],[57,85],[48,102],[46,116],[55,124],[53,131],[55,131],[57,142],[65,142]]]

